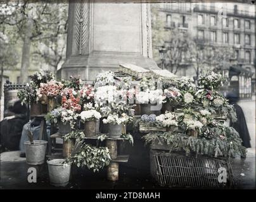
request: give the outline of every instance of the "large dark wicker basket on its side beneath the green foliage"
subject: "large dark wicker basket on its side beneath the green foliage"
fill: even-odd
[[[231,165],[226,158],[189,156],[163,150],[150,151],[151,175],[160,186],[225,187],[234,186]],[[219,182],[218,170],[226,169],[227,182]]]

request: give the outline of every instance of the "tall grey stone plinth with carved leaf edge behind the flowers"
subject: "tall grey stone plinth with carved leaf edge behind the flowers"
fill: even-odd
[[[93,81],[120,63],[158,69],[152,59],[150,4],[70,2],[67,57],[58,77]]]

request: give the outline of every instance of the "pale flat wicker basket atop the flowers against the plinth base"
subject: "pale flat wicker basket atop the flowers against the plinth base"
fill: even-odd
[[[141,68],[134,64],[120,64],[118,71],[128,74],[136,79],[142,79],[143,77],[151,77],[151,71]]]

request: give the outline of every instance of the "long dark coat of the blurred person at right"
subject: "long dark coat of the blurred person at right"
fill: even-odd
[[[243,140],[243,146],[245,146],[246,148],[250,148],[251,138],[245,121],[245,115],[243,114],[243,109],[241,109],[241,107],[236,103],[234,103],[233,105],[234,109],[236,110],[238,121],[230,122],[230,126],[238,131],[240,138]]]

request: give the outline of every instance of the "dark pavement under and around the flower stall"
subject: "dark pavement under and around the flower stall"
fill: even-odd
[[[0,189],[165,189],[153,183],[150,177],[148,148],[141,149],[143,148],[141,146],[144,145],[137,142],[133,150],[130,150],[129,163],[120,165],[118,182],[107,181],[106,170],[94,174],[90,170],[74,167],[70,183],[67,187],[61,188],[49,185],[46,164],[37,168],[39,170],[37,183],[30,184],[27,182],[29,166],[25,158],[18,158],[17,151],[2,153]],[[246,158],[233,158],[231,164],[236,182],[235,189],[255,189],[255,150],[249,150]]]

